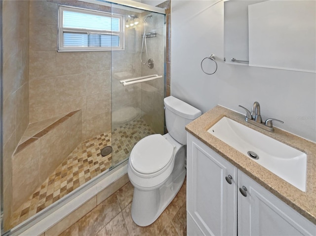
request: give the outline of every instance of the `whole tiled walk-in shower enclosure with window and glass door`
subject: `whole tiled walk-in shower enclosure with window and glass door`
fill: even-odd
[[[166,19],[139,5],[1,1],[2,233],[164,133]]]

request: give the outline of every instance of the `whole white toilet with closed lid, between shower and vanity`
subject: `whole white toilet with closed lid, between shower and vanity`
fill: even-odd
[[[139,226],[154,223],[179,192],[186,176],[185,126],[201,115],[173,96],[163,102],[169,133],[141,139],[128,161],[127,173],[134,186],[131,214]]]

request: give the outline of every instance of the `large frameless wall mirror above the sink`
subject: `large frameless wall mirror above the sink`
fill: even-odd
[[[316,73],[316,1],[225,1],[224,56],[226,63]]]

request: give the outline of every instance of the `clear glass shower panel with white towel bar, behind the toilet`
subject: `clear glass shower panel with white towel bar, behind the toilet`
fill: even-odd
[[[112,51],[112,168],[142,138],[164,134],[165,15],[112,4],[124,24],[123,50]]]

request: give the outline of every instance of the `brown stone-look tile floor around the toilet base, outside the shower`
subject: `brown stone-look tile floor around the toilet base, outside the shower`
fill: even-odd
[[[139,227],[131,218],[130,182],[97,205],[60,236],[186,236],[186,181],[177,196],[150,226]]]

